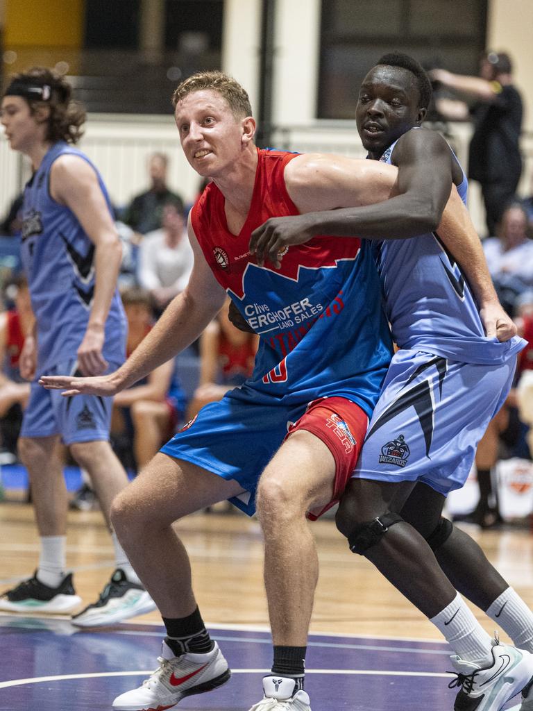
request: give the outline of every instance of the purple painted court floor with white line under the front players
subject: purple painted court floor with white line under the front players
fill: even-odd
[[[211,634],[232,678],[176,709],[248,711],[262,695],[270,636],[230,628]],[[66,620],[1,615],[0,710],[109,711],[114,697],[156,667],[162,636],[157,625],[77,631]],[[456,690],[448,689],[450,678],[443,675],[450,669],[448,654],[438,642],[311,635],[306,690],[312,709],[451,711]],[[516,697],[508,707],[518,703]]]

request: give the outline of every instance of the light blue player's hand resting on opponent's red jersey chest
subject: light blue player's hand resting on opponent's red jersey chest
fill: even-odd
[[[281,267],[281,260],[287,247],[303,245],[313,239],[312,213],[303,215],[288,215],[284,218],[270,218],[261,227],[252,232],[249,250],[256,255],[257,264],[262,267],[266,260]]]

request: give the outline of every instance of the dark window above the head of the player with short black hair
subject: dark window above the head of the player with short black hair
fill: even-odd
[[[487,0],[322,0],[318,117],[352,119],[363,77],[394,50],[477,74],[486,22]]]

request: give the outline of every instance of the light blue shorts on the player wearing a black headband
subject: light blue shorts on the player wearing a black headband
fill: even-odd
[[[112,373],[119,363],[109,365]],[[55,368],[48,368],[46,375],[75,373],[77,361],[69,360]],[[67,445],[77,442],[109,440],[109,427],[113,407],[112,397],[75,395],[63,397],[61,390],[46,390],[38,383],[31,383],[30,397],[21,427],[21,437],[54,437],[60,435]]]

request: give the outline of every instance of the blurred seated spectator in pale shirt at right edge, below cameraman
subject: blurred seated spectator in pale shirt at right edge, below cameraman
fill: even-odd
[[[533,287],[533,241],[524,207],[511,203],[504,211],[500,236],[483,240],[490,275],[503,306],[515,314],[520,294]]]

